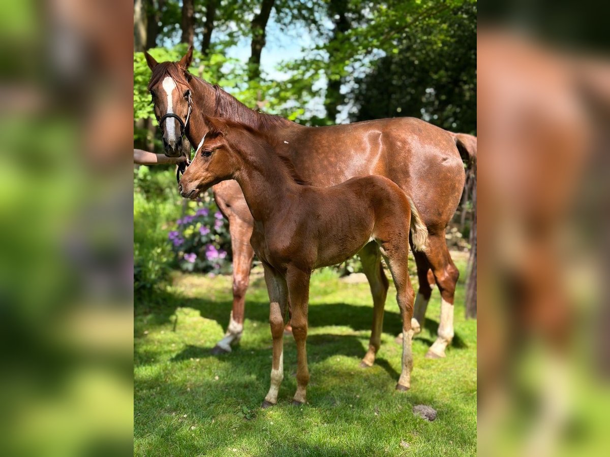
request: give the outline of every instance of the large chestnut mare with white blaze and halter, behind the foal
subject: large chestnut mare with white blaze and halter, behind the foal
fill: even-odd
[[[207,131],[202,116],[217,116],[264,130],[280,140],[278,152],[289,157],[300,175],[314,185],[332,186],[371,174],[397,183],[414,200],[429,232],[428,250],[414,252],[419,290],[415,299],[418,319],[414,319],[413,328],[417,332],[424,324],[432,292],[427,278],[431,269],[442,302],[438,337],[426,357],[444,357],[445,348],[453,339],[453,299],[459,276],[445,243],[445,228],[458,207],[464,187],[464,163],[458,146],[467,150],[468,145],[461,144],[458,135],[415,118],[329,127],[300,126],[279,116],[251,110],[218,86],[188,73],[191,58],[192,49],[175,63],[157,63],[146,53],[152,70],[148,89],[157,120],[170,113],[181,119],[170,116],[160,125],[165,154],[170,157],[182,154],[181,133],[191,144],[198,144]],[[213,191],[218,207],[229,219],[233,254],[233,307],[228,331],[214,349],[218,353],[230,351],[231,344],[242,335],[244,296],[254,257],[249,244],[254,222],[236,182],[219,183]],[[388,282],[375,244],[371,243],[359,256],[373,295],[375,328],[381,325]]]

